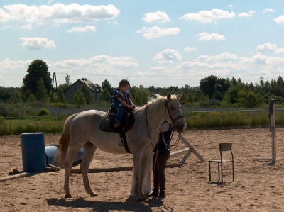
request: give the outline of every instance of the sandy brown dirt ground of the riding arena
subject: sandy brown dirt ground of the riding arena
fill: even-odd
[[[0,211],[284,211],[283,138],[284,128],[276,128],[277,157],[271,162],[253,162],[254,157],[271,158],[269,128],[231,130],[190,130],[182,135],[206,160],[191,154],[182,167],[167,168],[165,199],[144,202],[129,199],[132,171],[89,174],[99,196],[84,191],[81,174],[71,174],[71,199],[65,199],[64,171],[45,172],[0,182]],[[45,134],[45,146],[58,144],[60,135]],[[177,138],[177,135],[173,138]],[[224,167],[224,182],[217,181],[217,165],[209,183],[208,160],[219,158],[218,144],[233,143],[235,179],[231,165]],[[172,142],[173,143],[173,142]],[[180,141],[175,150],[185,148]],[[13,169],[23,170],[21,135],[0,137],[0,178]],[[174,151],[175,151],[174,150]],[[175,164],[182,158],[173,157]],[[100,150],[90,168],[129,167],[131,155],[111,155]],[[79,169],[79,166],[73,169]]]

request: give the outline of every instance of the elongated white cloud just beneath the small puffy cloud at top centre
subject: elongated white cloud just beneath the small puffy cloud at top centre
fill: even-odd
[[[141,30],[137,30],[137,33],[143,33],[143,37],[146,39],[161,38],[165,35],[178,35],[179,28],[159,28],[153,26],[152,28],[143,27]]]

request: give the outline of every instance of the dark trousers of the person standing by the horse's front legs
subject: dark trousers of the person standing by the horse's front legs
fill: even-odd
[[[155,152],[153,156],[154,191],[165,191],[165,165],[170,157],[170,151]]]

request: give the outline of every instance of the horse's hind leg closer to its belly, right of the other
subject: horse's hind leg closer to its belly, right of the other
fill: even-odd
[[[92,162],[94,157],[94,152],[96,151],[97,147],[95,147],[92,143],[88,142],[84,145],[84,157],[81,163],[81,171],[82,177],[84,182],[84,189],[90,196],[97,196],[97,194],[92,191],[91,186],[89,185],[89,164]]]

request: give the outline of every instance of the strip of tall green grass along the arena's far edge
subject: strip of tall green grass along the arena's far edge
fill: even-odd
[[[268,111],[186,112],[187,129],[269,127]],[[0,136],[21,133],[62,133],[67,116],[7,120],[0,116]],[[284,125],[284,111],[276,111],[276,125]]]

